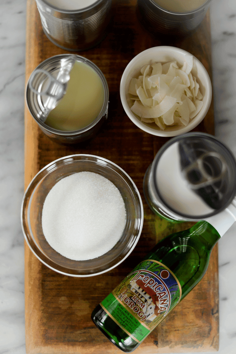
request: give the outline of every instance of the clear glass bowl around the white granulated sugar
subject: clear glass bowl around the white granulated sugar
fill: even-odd
[[[109,179],[119,189],[126,208],[126,225],[117,244],[104,255],[74,261],[55,251],[42,231],[42,207],[52,187],[76,172],[90,171]],[[45,166],[30,182],[22,202],[22,229],[31,251],[58,273],[84,277],[108,272],[123,262],[136,246],[143,227],[143,204],[132,179],[113,162],[94,155],[70,155]]]

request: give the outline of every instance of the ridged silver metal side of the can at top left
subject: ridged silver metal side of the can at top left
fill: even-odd
[[[81,10],[61,10],[46,0],[36,0],[36,3],[47,38],[65,50],[87,50],[106,34],[111,0],[98,0]]]

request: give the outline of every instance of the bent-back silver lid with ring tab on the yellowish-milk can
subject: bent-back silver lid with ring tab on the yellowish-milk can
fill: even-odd
[[[36,95],[44,97],[43,109],[40,115],[41,122],[45,122],[48,114],[54,109],[67,90],[68,81],[70,80],[70,71],[76,61],[76,55],[62,59],[61,68],[54,76],[43,69],[35,69],[29,78],[29,88]]]

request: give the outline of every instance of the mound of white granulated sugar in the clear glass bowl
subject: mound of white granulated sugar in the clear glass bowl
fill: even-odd
[[[61,179],[46,196],[42,229],[61,255],[77,261],[102,256],[126,224],[125,204],[115,185],[93,172]]]

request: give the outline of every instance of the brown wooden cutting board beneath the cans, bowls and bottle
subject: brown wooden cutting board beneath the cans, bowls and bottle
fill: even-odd
[[[144,205],[143,232],[131,255],[118,267],[91,278],[73,278],[53,272],[25,244],[26,351],[30,354],[121,353],[90,319],[94,307],[113,290],[158,240],[191,223],[161,221],[149,210],[142,182],[144,173],[165,138],[138,129],[126,116],[119,84],[128,62],[146,48],[172,45],[195,55],[211,77],[209,14],[196,32],[185,39],[152,36],[140,25],[135,1],[114,1],[109,34],[96,48],[80,55],[92,60],[109,86],[109,118],[90,142],[71,147],[53,143],[38,128],[25,107],[25,188],[49,162],[74,153],[102,156],[119,165],[136,183]],[[45,36],[35,0],[27,1],[26,82],[48,57],[67,53]],[[213,102],[195,131],[214,134]],[[188,296],[145,339],[135,353],[214,352],[219,344],[218,252],[214,247],[206,275]]]

